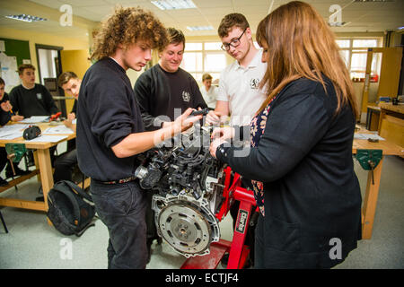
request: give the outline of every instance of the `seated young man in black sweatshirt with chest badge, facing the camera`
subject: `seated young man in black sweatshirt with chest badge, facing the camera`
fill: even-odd
[[[35,67],[23,64],[18,67],[22,83],[10,91],[13,111],[22,117],[50,116],[57,113],[57,106],[50,92],[40,83],[35,83]]]

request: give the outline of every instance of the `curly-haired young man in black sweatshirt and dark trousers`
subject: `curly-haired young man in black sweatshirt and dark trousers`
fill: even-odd
[[[95,35],[92,60],[77,105],[80,170],[92,178],[90,191],[108,227],[109,268],[145,268],[147,260],[145,192],[134,177],[136,155],[185,130],[201,118],[192,109],[172,125],[145,132],[126,71],[140,71],[151,49],[165,45],[166,30],[152,13],[117,7]]]

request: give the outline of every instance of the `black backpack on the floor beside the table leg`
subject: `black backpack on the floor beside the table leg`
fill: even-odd
[[[71,181],[58,181],[48,192],[47,216],[61,233],[82,236],[87,228],[95,225],[92,196]]]

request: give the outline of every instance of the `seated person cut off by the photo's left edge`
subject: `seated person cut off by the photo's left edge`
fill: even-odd
[[[21,116],[13,115],[12,105],[10,104],[10,100],[8,98],[8,94],[4,91],[4,80],[0,78],[0,126],[4,126],[10,120],[11,121],[19,121],[22,120]],[[8,162],[8,163],[7,163]],[[4,147],[0,147],[0,171],[4,169],[5,164],[7,163],[7,167],[5,169],[5,177],[11,178],[13,176],[13,168],[10,164],[10,161],[7,160],[7,152]],[[28,174],[30,171],[20,170],[17,166],[17,163],[13,162],[15,175],[24,175]],[[5,187],[8,185],[7,180],[0,177],[0,187]]]

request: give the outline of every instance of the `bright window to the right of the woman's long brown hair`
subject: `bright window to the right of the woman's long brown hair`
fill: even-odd
[[[354,82],[364,82],[366,71],[367,49],[382,47],[382,38],[374,39],[337,39],[341,57]],[[381,68],[381,55],[373,55],[371,82],[378,82]]]

